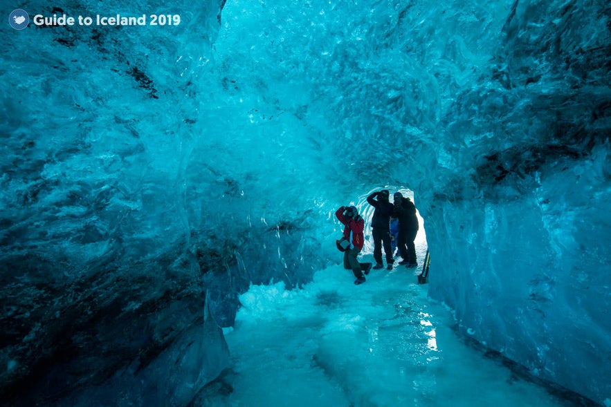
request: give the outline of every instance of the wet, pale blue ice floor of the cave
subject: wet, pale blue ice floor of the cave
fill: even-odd
[[[417,272],[372,270],[357,286],[338,265],[302,290],[251,287],[226,332],[232,368],[195,405],[572,405],[468,346]]]

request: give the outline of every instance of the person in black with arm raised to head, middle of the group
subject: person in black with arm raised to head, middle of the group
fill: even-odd
[[[382,264],[382,245],[384,246],[384,253],[386,255],[386,268],[391,270],[394,258],[392,257],[392,251],[390,248],[390,215],[393,211],[392,203],[388,201],[390,193],[387,189],[382,189],[367,196],[367,202],[374,210],[374,216],[372,218],[372,236],[374,238],[374,259],[376,265],[374,269],[381,269],[384,267]],[[376,198],[376,199],[374,199]]]

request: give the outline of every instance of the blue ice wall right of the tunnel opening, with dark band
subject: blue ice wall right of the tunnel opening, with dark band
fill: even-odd
[[[448,100],[441,182],[425,198],[439,257],[430,295],[466,334],[600,403],[611,394],[609,17],[599,2],[514,3],[484,71],[472,66]]]

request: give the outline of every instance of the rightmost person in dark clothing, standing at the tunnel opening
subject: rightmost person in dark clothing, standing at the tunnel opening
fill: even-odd
[[[401,192],[395,192],[393,198],[393,215],[399,219],[399,234],[397,234],[396,245],[399,247],[399,253],[403,258],[399,264],[413,268],[418,265],[416,260],[416,245],[414,245],[419,227],[416,206],[410,198],[403,197]]]

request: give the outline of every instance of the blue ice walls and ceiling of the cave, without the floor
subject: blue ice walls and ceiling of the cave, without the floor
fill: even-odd
[[[381,186],[459,334],[611,405],[609,3],[1,10],[7,405],[188,405],[239,295],[337,264],[334,211]]]

